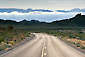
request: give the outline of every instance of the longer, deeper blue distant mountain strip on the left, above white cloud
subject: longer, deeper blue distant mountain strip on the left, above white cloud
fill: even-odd
[[[11,12],[21,12],[21,13],[28,13],[28,12],[34,12],[34,11],[40,11],[40,12],[53,12],[51,10],[45,10],[45,9],[31,9],[31,8],[28,8],[28,9],[16,9],[16,8],[0,8],[0,12],[7,12],[7,13],[11,13]]]

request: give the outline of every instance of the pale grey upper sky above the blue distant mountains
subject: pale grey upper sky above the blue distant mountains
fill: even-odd
[[[0,8],[70,10],[85,8],[85,0],[0,0]]]

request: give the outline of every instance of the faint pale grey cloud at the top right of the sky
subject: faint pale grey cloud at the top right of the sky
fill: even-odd
[[[55,5],[76,5],[76,4],[83,4],[84,0],[49,0],[49,3]]]

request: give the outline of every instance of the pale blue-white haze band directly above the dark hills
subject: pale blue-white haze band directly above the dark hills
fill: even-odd
[[[69,19],[74,17],[78,13],[58,13],[58,14],[29,14],[29,13],[0,13],[0,19],[4,20],[15,20],[15,21],[22,21],[24,19],[26,20],[39,20],[39,21],[45,21],[45,22],[52,22],[56,20],[63,20],[63,19]],[[82,15],[85,15],[83,13]]]

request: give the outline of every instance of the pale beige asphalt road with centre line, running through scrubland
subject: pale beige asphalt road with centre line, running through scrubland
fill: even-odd
[[[35,33],[35,38],[0,57],[85,57],[85,54],[57,37]]]

